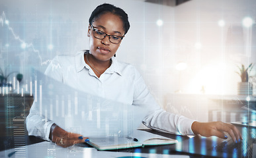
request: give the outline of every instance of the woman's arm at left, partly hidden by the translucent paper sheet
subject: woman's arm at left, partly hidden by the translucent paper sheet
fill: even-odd
[[[55,57],[46,68],[45,74],[50,78],[63,82],[62,65],[59,57]],[[36,102],[34,101],[30,113],[26,118],[28,135],[39,136],[44,140],[55,142],[57,145],[67,147],[76,143],[84,142],[81,134],[67,132],[57,126],[52,120],[48,120],[44,115],[40,115]]]

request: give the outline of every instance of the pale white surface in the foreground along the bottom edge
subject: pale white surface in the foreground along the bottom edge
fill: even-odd
[[[12,154],[13,153],[13,154]],[[71,147],[60,147],[51,142],[41,142],[38,144],[26,145],[24,147],[17,147],[15,149],[8,149],[0,152],[0,157],[48,157],[48,158],[72,158],[72,157],[86,157],[86,158],[188,158],[185,155],[166,155],[156,153],[128,153],[115,151],[97,151],[93,147],[79,147],[73,145]]]

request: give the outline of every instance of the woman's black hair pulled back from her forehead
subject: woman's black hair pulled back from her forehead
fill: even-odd
[[[128,14],[126,14],[124,10],[107,3],[104,3],[103,5],[99,5],[98,7],[96,7],[93,13],[91,13],[91,16],[89,18],[89,24],[92,24],[94,20],[96,20],[102,14],[105,14],[105,13],[112,13],[119,16],[124,26],[124,34],[128,32],[130,28],[130,23],[128,21]]]

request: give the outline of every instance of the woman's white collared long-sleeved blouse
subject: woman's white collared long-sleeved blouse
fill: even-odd
[[[75,55],[56,56],[46,68],[45,74],[92,95],[127,105],[146,106],[150,109],[150,113],[142,123],[149,128],[173,134],[193,134],[191,125],[194,120],[161,109],[134,66],[119,62],[112,57],[111,66],[98,78],[91,67],[85,63],[84,53],[81,51]],[[32,105],[30,114],[26,118],[28,135],[49,140],[52,124],[54,122],[45,121]]]

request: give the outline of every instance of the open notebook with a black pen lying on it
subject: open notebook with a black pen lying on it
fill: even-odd
[[[118,137],[90,138],[87,144],[99,150],[125,149],[130,147],[144,147],[145,145],[175,144],[177,140],[152,134],[144,130],[134,130],[133,134]]]

